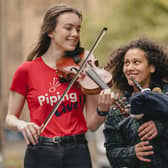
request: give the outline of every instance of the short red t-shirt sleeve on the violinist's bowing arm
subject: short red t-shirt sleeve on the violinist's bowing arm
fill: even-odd
[[[28,90],[28,72],[24,63],[16,70],[10,90],[26,96]]]

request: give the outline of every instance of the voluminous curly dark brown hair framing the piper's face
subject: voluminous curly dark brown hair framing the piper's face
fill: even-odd
[[[167,48],[148,38],[142,37],[112,51],[110,54],[110,59],[107,62],[105,69],[112,73],[114,89],[120,90],[121,92],[130,89],[127,79],[123,74],[123,65],[124,56],[131,48],[139,48],[143,50],[146,53],[149,65],[153,64],[155,66],[156,71],[151,76],[152,82],[160,85],[163,80],[168,80]]]

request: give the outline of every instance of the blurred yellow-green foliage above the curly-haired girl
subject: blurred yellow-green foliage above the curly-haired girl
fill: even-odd
[[[82,32],[83,44],[90,49],[102,25],[108,27],[106,35],[94,53],[100,60],[100,65],[106,63],[111,50],[140,36],[168,43],[166,0],[120,0],[117,3],[108,1],[104,12],[97,16],[99,19],[92,20],[89,19],[91,16],[88,12],[84,21],[85,32]]]

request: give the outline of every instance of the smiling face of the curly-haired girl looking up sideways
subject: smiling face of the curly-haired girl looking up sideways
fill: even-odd
[[[149,87],[151,74],[153,72],[155,72],[155,67],[154,65],[148,64],[146,53],[143,50],[132,48],[126,52],[123,73],[130,86],[134,86],[131,80],[131,77],[134,77],[143,88]]]

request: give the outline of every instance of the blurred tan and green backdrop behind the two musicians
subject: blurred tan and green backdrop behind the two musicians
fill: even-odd
[[[45,11],[56,3],[81,10],[81,42],[88,50],[101,29],[108,28],[94,53],[100,66],[114,48],[140,36],[168,44],[167,0],[0,0],[0,168],[23,167],[25,142],[4,125],[8,90],[16,68],[38,38]],[[29,119],[27,107],[22,117]],[[88,133],[94,168],[109,167],[102,129]]]

